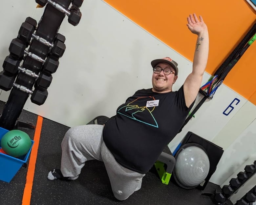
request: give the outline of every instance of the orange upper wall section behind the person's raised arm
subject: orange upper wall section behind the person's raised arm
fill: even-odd
[[[209,74],[218,69],[256,19],[256,12],[245,0],[216,0],[203,3],[200,0],[105,2],[191,61],[196,36],[187,29],[186,17],[190,13],[202,15],[210,37],[206,68]],[[256,76],[255,53],[256,43],[253,43],[224,80],[225,85],[246,99],[256,91],[256,80],[253,79]]]

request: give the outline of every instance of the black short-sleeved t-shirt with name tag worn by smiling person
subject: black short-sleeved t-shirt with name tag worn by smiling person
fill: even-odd
[[[138,90],[108,120],[103,140],[119,164],[145,174],[179,132],[192,106],[185,104],[183,86],[162,94]]]

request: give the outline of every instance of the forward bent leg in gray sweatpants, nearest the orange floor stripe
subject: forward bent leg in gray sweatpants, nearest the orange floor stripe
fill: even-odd
[[[61,143],[61,173],[64,177],[76,177],[88,160],[100,160],[102,125],[82,125],[70,128]]]

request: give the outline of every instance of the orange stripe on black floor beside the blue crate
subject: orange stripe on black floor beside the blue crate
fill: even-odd
[[[37,150],[38,150],[38,146],[39,146],[42,123],[43,123],[43,117],[38,116],[36,128],[35,128],[34,139],[33,139],[34,144],[33,144],[32,150],[31,150],[31,154],[30,154],[30,160],[29,160],[29,166],[28,166],[28,172],[27,172],[27,180],[26,180],[26,184],[25,184],[25,188],[24,188],[24,192],[23,192],[22,205],[30,205],[32,185],[33,185],[34,172],[35,172],[35,163],[36,163],[36,157],[37,157]]]

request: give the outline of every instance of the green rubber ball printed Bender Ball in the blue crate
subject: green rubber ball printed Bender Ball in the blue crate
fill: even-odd
[[[31,145],[29,135],[18,129],[7,132],[1,140],[2,149],[12,157],[21,157],[27,154]]]

